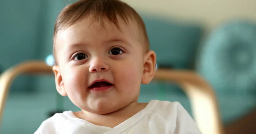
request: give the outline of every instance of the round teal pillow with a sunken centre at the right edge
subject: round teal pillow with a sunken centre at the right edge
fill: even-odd
[[[209,35],[199,52],[196,70],[217,92],[256,91],[256,24],[228,22]]]

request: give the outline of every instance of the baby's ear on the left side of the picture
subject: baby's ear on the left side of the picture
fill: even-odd
[[[52,67],[52,70],[55,75],[55,85],[58,93],[62,96],[67,96],[67,92],[64,87],[64,83],[62,81],[61,73],[60,73],[60,68],[57,65],[54,65]]]

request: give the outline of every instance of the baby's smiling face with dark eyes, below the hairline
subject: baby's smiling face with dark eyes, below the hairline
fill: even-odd
[[[82,110],[105,114],[136,102],[145,50],[137,27],[80,20],[57,34],[56,87]]]

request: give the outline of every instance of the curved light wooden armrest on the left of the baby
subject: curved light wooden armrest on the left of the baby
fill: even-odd
[[[10,85],[13,80],[24,73],[45,73],[52,74],[52,67],[43,61],[27,61],[9,68],[0,75],[0,122],[2,120],[3,109],[6,103]]]

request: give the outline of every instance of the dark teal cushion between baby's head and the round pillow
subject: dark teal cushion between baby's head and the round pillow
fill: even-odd
[[[142,15],[150,48],[157,53],[157,64],[175,69],[191,69],[198,43],[201,39],[200,25],[178,23]]]

